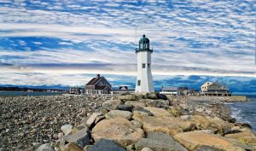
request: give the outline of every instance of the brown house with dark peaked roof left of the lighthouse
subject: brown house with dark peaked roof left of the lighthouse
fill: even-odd
[[[89,83],[85,84],[85,94],[109,94],[112,90],[111,84],[100,74],[96,74],[96,78],[92,78]]]

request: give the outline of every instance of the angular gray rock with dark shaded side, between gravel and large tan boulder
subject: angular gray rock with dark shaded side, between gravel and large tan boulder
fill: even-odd
[[[74,142],[80,148],[84,148],[84,146],[90,145],[90,131],[85,127],[72,135],[64,136],[64,140],[67,142]]]

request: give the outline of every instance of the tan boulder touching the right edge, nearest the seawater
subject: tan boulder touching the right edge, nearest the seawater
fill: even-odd
[[[255,143],[256,144],[256,136],[253,134],[253,131],[244,128],[240,131],[236,131],[236,133],[231,133],[225,135],[228,138],[234,138],[239,142],[246,142],[246,143]]]

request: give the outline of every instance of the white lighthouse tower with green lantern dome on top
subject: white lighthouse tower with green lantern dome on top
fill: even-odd
[[[149,39],[145,35],[139,40],[139,47],[135,50],[137,54],[137,83],[135,92],[154,92],[151,73],[151,54],[153,49],[149,49]]]

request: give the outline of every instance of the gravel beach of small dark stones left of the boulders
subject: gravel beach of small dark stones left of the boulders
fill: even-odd
[[[55,142],[61,125],[79,125],[110,96],[0,97],[0,150],[32,150]]]

